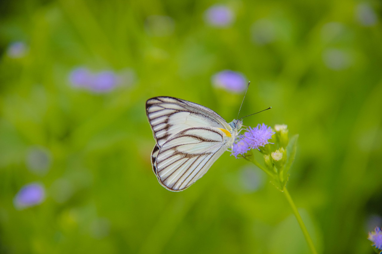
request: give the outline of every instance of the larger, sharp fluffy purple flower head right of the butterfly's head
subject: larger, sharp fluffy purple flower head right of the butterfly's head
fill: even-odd
[[[265,146],[269,143],[268,140],[272,135],[275,134],[272,128],[265,124],[258,124],[256,128],[249,127],[246,130],[247,132],[244,133],[243,139],[248,143],[251,149],[259,149],[260,146]]]

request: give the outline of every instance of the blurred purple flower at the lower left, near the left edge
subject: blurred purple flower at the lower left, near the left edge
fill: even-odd
[[[41,204],[45,199],[45,189],[39,183],[30,183],[24,185],[13,199],[16,208],[23,209],[26,207]]]

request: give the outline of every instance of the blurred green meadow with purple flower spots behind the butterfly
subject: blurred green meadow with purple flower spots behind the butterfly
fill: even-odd
[[[223,154],[189,189],[152,172],[168,95],[299,134],[287,187],[320,253],[382,226],[379,1],[0,3],[1,253],[309,253],[284,196]]]

